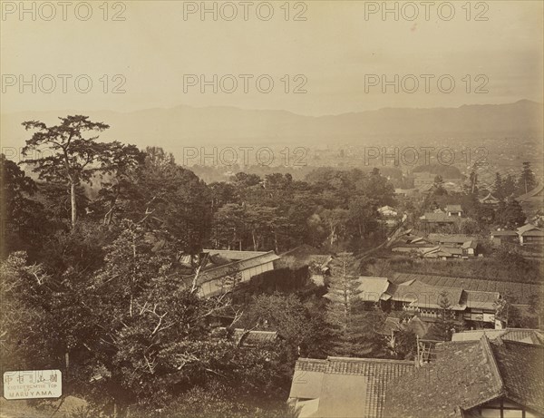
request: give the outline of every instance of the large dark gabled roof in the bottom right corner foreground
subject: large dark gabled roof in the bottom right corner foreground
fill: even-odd
[[[461,418],[462,411],[506,397],[544,413],[544,347],[478,341],[441,345],[437,359],[389,385],[385,416]]]

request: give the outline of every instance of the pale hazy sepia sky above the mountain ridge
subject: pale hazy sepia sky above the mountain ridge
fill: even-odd
[[[20,2],[2,2],[2,112],[185,104],[321,115],[544,101],[542,1],[387,2],[385,16],[384,2],[206,2],[217,20],[201,2],[69,3],[29,1],[20,15]],[[382,75],[393,82],[385,92]],[[120,83],[125,92],[112,93]],[[306,93],[294,93],[301,83]]]

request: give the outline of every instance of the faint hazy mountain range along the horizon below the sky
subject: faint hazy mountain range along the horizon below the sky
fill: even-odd
[[[178,106],[136,112],[16,112],[1,115],[2,147],[21,147],[29,138],[21,122],[52,124],[56,117],[85,114],[111,129],[101,138],[159,145],[177,154],[200,144],[226,146],[248,143],[312,145],[357,141],[375,145],[376,138],[455,135],[542,135],[544,106],[522,100],[508,104],[462,105],[458,108],[384,108],[327,116],[303,116],[285,111],[243,110],[234,107]]]

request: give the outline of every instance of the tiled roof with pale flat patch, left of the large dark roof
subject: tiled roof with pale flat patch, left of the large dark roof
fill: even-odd
[[[318,399],[312,417],[382,418],[385,390],[390,382],[413,371],[412,361],[327,357],[296,361],[289,398]],[[312,404],[312,411],[315,411]]]

